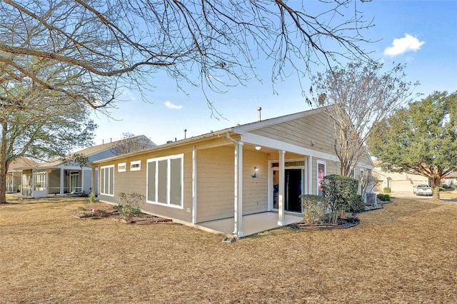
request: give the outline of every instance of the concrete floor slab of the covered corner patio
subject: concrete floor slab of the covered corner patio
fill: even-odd
[[[284,225],[296,223],[303,220],[301,214],[286,213],[284,215]],[[208,221],[204,223],[197,223],[196,226],[199,228],[210,231],[213,233],[226,233],[232,234],[235,228],[234,218],[224,218],[216,221]],[[243,216],[243,236],[253,235],[262,231],[271,230],[275,228],[281,228],[282,225],[278,225],[278,213],[277,212],[262,212],[256,214],[250,214]]]

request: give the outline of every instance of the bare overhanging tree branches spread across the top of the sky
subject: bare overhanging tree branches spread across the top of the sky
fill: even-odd
[[[271,60],[273,83],[313,64],[368,59],[361,2],[281,0],[28,0],[0,2],[0,71],[103,108],[149,76],[225,91],[258,77]],[[49,78],[34,67],[59,63]],[[261,80],[261,79],[259,79]],[[211,103],[209,103],[212,108]]]

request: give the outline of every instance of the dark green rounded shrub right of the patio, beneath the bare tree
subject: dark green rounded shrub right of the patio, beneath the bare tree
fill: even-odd
[[[331,210],[331,223],[336,223],[338,213],[351,208],[351,203],[358,205],[358,198],[355,198],[357,191],[358,181],[355,178],[336,174],[323,177],[322,193]]]

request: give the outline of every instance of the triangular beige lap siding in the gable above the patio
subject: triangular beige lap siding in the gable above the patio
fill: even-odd
[[[253,130],[251,133],[325,153],[333,151],[333,124],[325,113],[278,123]],[[314,146],[311,145],[311,141],[314,142]]]

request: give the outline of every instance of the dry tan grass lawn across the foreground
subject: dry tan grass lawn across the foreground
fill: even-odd
[[[0,206],[0,303],[457,303],[457,203],[396,199],[355,228],[227,244],[72,217],[85,202]]]

